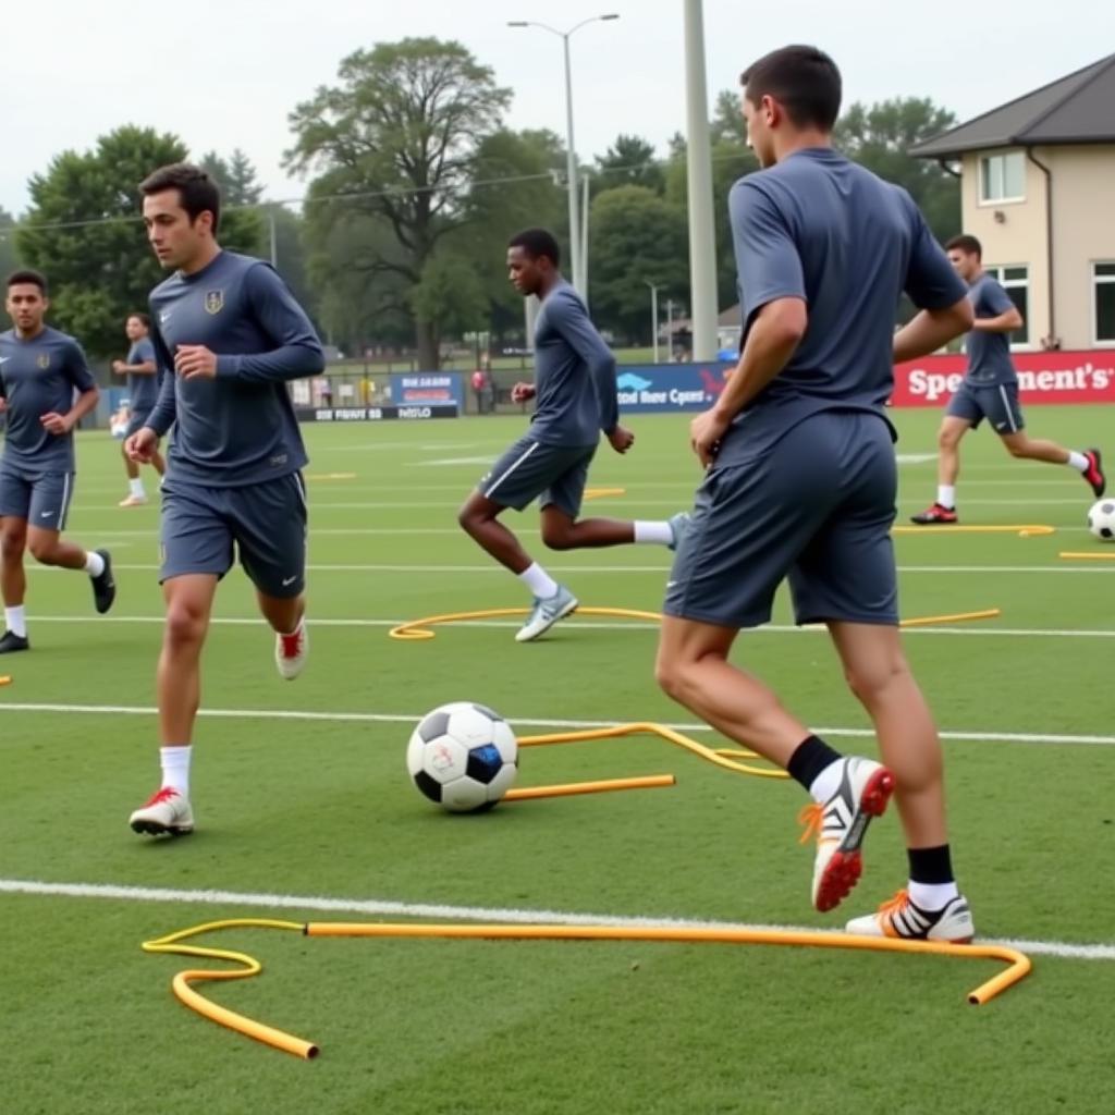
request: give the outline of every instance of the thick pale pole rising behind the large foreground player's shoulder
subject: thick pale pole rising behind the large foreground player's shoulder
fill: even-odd
[[[712,157],[705,79],[701,0],[686,0],[686,126],[689,169],[689,284],[692,290],[692,359],[716,359],[716,234]]]

